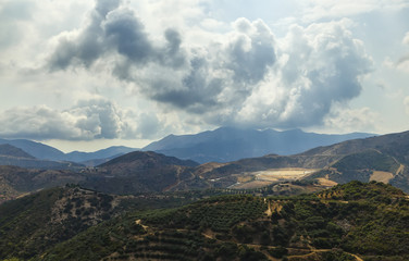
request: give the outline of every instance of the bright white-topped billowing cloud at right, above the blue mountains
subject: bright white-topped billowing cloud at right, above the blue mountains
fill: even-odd
[[[322,125],[331,108],[358,97],[372,61],[348,21],[293,26],[281,40],[278,63],[246,100],[236,122],[276,127]]]

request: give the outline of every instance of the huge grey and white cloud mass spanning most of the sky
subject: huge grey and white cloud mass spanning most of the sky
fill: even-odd
[[[276,38],[263,21],[238,18],[225,34],[195,27],[196,35],[214,36],[197,45],[172,25],[153,35],[131,7],[97,1],[86,26],[57,37],[48,66],[91,73],[102,66],[136,96],[183,112],[185,122],[317,126],[334,105],[360,95],[360,78],[372,70],[350,26],[349,20],[294,25]],[[154,117],[144,122],[159,126]],[[96,126],[89,120],[79,129],[88,125]],[[115,129],[94,137],[117,136]]]

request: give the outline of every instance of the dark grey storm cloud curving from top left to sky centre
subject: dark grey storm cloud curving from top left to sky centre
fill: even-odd
[[[233,39],[222,49],[187,50],[182,47],[177,30],[165,29],[164,44],[154,45],[133,10],[116,4],[106,7],[108,3],[97,2],[88,26],[76,37],[60,39],[50,59],[52,70],[65,70],[78,63],[89,67],[96,60],[117,53],[122,59],[115,61],[114,76],[136,83],[139,91],[153,100],[201,113],[219,103],[231,103],[234,97],[220,100],[218,96],[232,85],[235,90],[230,92],[240,95],[234,98],[235,102],[243,100],[250,94],[251,85],[262,80],[275,62],[273,36],[261,21],[237,22]],[[166,73],[141,75],[147,64],[152,71]],[[177,71],[176,76],[171,76],[173,82],[170,80],[172,71]]]

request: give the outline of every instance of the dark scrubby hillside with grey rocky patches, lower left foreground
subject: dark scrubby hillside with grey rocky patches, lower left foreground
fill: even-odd
[[[0,206],[0,259],[27,260],[111,219],[117,200],[78,187],[52,188]]]

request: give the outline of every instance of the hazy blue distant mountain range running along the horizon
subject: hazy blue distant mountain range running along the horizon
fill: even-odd
[[[230,162],[270,153],[295,154],[318,146],[370,136],[374,135],[365,133],[326,135],[305,133],[300,129],[277,132],[274,129],[221,127],[195,135],[170,135],[144,147],[141,150],[156,151],[199,163]],[[72,151],[64,153],[51,146],[27,139],[0,139],[1,144],[12,145],[37,159],[70,161],[88,166],[98,165],[115,157],[139,150],[125,146],[114,146],[95,152]]]

